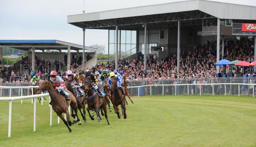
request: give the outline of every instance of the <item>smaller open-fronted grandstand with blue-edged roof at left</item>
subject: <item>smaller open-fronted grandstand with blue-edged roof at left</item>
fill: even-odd
[[[59,40],[0,40],[1,61],[3,49],[6,47],[28,52],[27,56],[24,56],[22,60],[17,61],[9,68],[9,71],[14,69],[15,73],[19,72],[23,75],[24,73],[30,75],[31,70],[36,73],[39,70],[45,73],[45,70],[49,72],[51,70],[66,71],[71,68],[81,69],[83,65],[85,68],[91,68],[96,65],[97,61],[97,49],[84,46],[86,54],[84,55],[84,63],[82,63],[81,57],[83,55],[79,51],[83,49],[83,46]],[[45,52],[46,50],[57,50],[57,52]],[[1,77],[4,77],[3,72],[5,71],[2,70]]]

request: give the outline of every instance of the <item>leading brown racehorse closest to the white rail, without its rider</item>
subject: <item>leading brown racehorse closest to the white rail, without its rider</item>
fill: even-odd
[[[48,79],[43,81],[40,84],[40,86],[38,87],[38,90],[49,92],[49,95],[52,100],[52,109],[56,112],[56,114],[60,117],[60,119],[65,123],[65,125],[69,129],[69,132],[71,133],[72,130],[69,126],[71,126],[72,124],[74,124],[76,122],[80,122],[78,115],[77,115],[77,103],[76,103],[76,99],[75,99],[74,95],[70,91],[65,90],[66,92],[68,92],[70,94],[70,101],[68,102],[68,105],[71,106],[72,111],[73,111],[73,109],[75,110],[75,113],[77,116],[77,121],[71,122],[70,117],[69,117],[69,106],[67,105],[66,99],[64,96],[62,96],[61,94],[57,93],[54,90],[51,81],[49,81]],[[64,117],[62,116],[62,113],[66,113],[68,122],[64,119]]]

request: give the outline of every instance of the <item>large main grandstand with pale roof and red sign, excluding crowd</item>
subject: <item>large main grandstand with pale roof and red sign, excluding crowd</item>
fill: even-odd
[[[83,31],[109,30],[109,50],[115,50],[116,55],[115,69],[121,52],[130,52],[129,55],[142,52],[148,57],[156,54],[159,59],[167,55],[170,60],[176,54],[174,62],[179,73],[183,65],[177,61],[182,60],[182,55],[193,52],[196,46],[207,44],[211,47],[210,51],[214,51],[212,54],[216,56],[216,61],[212,62],[214,65],[225,57],[224,44],[239,38],[249,39],[248,42],[253,43],[254,53],[251,57],[255,61],[255,12],[256,7],[253,6],[191,0],[69,15],[68,23],[83,28]],[[146,70],[146,60],[141,67]],[[216,72],[220,72],[219,67],[216,67]]]

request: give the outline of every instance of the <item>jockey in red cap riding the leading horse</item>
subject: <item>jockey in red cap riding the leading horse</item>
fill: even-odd
[[[50,81],[52,81],[53,83],[53,87],[54,89],[61,95],[65,96],[67,104],[68,101],[70,100],[69,96],[70,94],[66,91],[63,91],[66,89],[66,85],[65,82],[63,81],[63,79],[60,76],[57,76],[57,72],[56,71],[52,71],[50,73]],[[51,102],[50,102],[51,104]]]

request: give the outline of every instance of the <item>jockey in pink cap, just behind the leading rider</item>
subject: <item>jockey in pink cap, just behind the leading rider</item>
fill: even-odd
[[[68,80],[71,85],[72,85],[72,88],[80,95],[82,96],[83,95],[83,91],[81,89],[79,89],[79,87],[77,86],[78,84],[78,79],[77,79],[77,76],[76,74],[72,73],[71,70],[68,70],[67,73],[66,73],[66,76],[64,77],[65,80]]]

